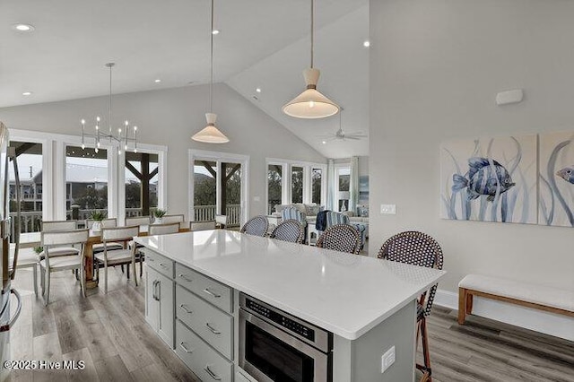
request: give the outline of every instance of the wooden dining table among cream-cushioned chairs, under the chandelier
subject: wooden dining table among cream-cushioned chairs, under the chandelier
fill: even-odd
[[[189,232],[189,226],[189,222],[183,221],[183,224],[180,224],[179,232]],[[141,225],[140,233],[137,236],[148,236],[148,230],[148,225]],[[39,247],[41,246],[41,241],[41,232],[26,232],[20,234],[21,247]],[[94,279],[93,246],[101,243],[103,243],[103,240],[101,239],[101,231],[90,230],[88,240],[83,245],[83,268],[86,275],[86,289],[93,289],[98,287],[98,279]]]

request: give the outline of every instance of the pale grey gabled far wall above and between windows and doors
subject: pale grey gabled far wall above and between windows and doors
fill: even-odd
[[[114,120],[129,119],[139,127],[143,143],[168,146],[167,206],[170,213],[187,215],[187,150],[211,150],[250,155],[249,216],[265,213],[265,157],[326,163],[326,158],[279,125],[225,84],[214,86],[217,126],[230,143],[207,144],[191,140],[205,126],[208,88],[188,86],[114,96]],[[108,97],[68,100],[0,109],[9,128],[79,135],[79,120],[107,116]],[[260,196],[255,202],[254,196]]]

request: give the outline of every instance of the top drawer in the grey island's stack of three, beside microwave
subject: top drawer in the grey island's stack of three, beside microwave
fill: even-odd
[[[217,308],[228,313],[233,311],[233,293],[227,285],[179,264],[176,264],[176,282]]]

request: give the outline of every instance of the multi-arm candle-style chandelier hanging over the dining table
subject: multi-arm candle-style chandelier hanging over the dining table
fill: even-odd
[[[80,124],[82,126],[82,149],[86,148],[86,138],[92,138],[94,140],[94,152],[100,151],[100,142],[102,140],[109,140],[109,143],[117,142],[119,147],[117,148],[117,155],[122,154],[122,144],[124,145],[124,151],[127,152],[130,143],[134,143],[134,152],[137,152],[137,126],[130,126],[129,121],[124,122],[124,128],[117,128],[117,132],[111,126],[111,70],[114,67],[114,63],[106,64],[109,68],[109,119],[108,119],[108,132],[104,132],[100,126],[101,118],[96,117],[95,134],[90,134],[85,132],[86,120],[82,119]],[[130,137],[130,130],[133,131],[133,136]],[[116,135],[117,134],[117,135]]]

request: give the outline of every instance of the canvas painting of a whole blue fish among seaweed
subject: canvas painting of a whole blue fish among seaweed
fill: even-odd
[[[443,219],[537,222],[536,135],[443,143],[440,178]]]

